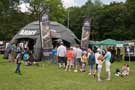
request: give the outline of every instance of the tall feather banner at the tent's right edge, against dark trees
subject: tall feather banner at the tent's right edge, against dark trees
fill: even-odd
[[[91,20],[86,18],[82,27],[81,48],[86,50],[89,44]]]

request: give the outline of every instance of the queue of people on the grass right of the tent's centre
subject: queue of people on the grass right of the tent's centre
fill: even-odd
[[[107,48],[106,52],[102,52],[102,50],[99,48],[96,50],[96,52],[94,52],[91,48],[88,48],[87,50],[82,50],[79,45],[66,48],[63,45],[63,42],[61,42],[58,48],[52,50],[52,53],[52,60],[54,62],[54,57],[56,58],[59,68],[64,68],[65,71],[73,70],[74,72],[85,72],[87,70],[86,66],[88,65],[89,75],[97,75],[98,81],[102,81],[102,65],[105,62],[107,80],[111,80],[110,61],[112,54],[110,48]],[[95,65],[96,68],[94,68]]]

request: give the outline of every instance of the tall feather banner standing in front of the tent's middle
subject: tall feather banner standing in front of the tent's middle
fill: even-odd
[[[48,12],[46,11],[40,22],[41,27],[41,39],[42,39],[42,51],[44,57],[49,57],[52,50],[52,38],[50,22],[48,17]]]

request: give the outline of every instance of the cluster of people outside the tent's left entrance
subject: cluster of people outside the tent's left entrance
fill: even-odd
[[[15,73],[21,73],[20,65],[21,60],[23,60],[25,65],[32,65],[34,59],[32,52],[29,50],[28,47],[22,47],[19,43],[16,44],[9,44],[7,47],[8,51],[8,61],[11,63],[16,62],[16,70]]]

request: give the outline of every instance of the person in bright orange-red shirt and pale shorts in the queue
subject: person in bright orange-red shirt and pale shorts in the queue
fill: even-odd
[[[73,48],[69,48],[67,50],[66,57],[67,57],[67,65],[66,65],[65,71],[67,71],[68,69],[69,69],[69,71],[71,71],[71,66],[72,66],[73,59],[74,59]]]

